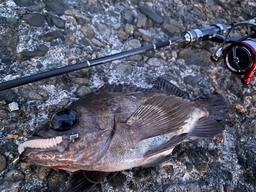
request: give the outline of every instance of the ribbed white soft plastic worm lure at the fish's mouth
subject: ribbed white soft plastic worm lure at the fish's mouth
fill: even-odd
[[[33,139],[30,141],[25,141],[18,146],[18,153],[24,152],[24,147],[30,148],[50,148],[56,146],[62,142],[62,137],[55,137],[51,139]]]

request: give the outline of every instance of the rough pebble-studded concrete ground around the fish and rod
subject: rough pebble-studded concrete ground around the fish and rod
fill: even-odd
[[[234,0],[0,0],[0,81],[146,46],[185,30],[237,23],[253,18],[255,5]],[[157,76],[190,98],[222,92],[234,108],[223,138],[182,143],[169,161],[124,170],[94,191],[255,191],[256,80],[243,85],[222,61],[210,62],[217,48],[212,42],[175,45],[0,92],[0,191],[61,191],[68,173],[12,164],[18,144],[56,108],[105,82],[150,88]],[[10,111],[12,102],[19,110]]]

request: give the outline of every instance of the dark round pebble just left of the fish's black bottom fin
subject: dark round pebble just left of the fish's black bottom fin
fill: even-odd
[[[64,170],[52,170],[47,178],[48,186],[51,191],[59,191],[68,181],[68,174]]]

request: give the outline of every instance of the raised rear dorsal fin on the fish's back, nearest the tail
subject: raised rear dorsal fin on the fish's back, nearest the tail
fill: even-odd
[[[182,90],[162,77],[157,77],[157,81],[152,90],[161,90],[166,95],[175,95],[176,97],[188,99],[188,95],[186,95]]]

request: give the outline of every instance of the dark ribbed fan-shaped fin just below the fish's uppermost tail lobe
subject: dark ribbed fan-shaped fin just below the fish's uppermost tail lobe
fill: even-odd
[[[212,138],[221,135],[224,127],[212,117],[202,117],[189,133],[188,140]]]

